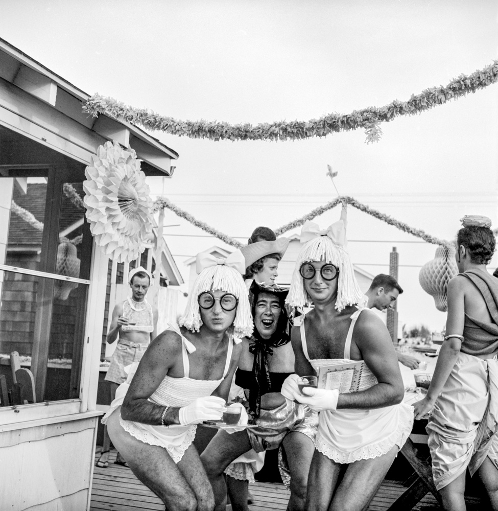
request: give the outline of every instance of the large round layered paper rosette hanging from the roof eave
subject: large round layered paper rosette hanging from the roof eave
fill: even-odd
[[[137,259],[152,232],[149,186],[133,149],[99,146],[83,182],[86,218],[95,241],[118,263]]]

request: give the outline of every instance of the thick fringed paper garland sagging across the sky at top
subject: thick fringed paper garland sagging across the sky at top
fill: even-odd
[[[367,107],[348,114],[329,113],[320,119],[309,121],[277,121],[232,125],[217,121],[179,121],[159,115],[147,108],[134,108],[113,98],[94,94],[83,105],[83,111],[97,117],[105,113],[114,119],[140,124],[146,129],[191,138],[210,140],[302,140],[322,137],[340,131],[365,129],[367,144],[377,142],[382,131],[380,123],[389,122],[404,115],[416,115],[450,100],[461,98],[469,92],[476,92],[498,80],[498,60],[483,69],[466,76],[460,75],[443,87],[431,87],[420,94],[412,95],[407,101],[394,100],[381,107]]]

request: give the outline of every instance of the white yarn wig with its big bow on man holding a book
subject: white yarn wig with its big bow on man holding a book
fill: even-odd
[[[342,209],[341,219],[323,231],[320,231],[318,226],[309,220],[304,223],[301,233],[303,246],[297,256],[286,300],[291,307],[302,309],[312,301],[304,289],[304,281],[299,273],[301,265],[310,261],[325,261],[339,269],[336,301],[338,311],[342,311],[348,305],[362,303],[363,293],[354,277],[353,265],[345,248],[346,225],[345,208]]]

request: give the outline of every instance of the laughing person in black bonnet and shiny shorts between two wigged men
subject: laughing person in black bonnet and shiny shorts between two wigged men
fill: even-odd
[[[284,306],[287,290],[275,284],[253,282],[250,292],[255,330],[251,337],[243,339],[235,383],[244,388],[256,428],[232,434],[219,431],[201,459],[215,492],[215,509],[221,511],[226,506],[223,471],[229,463],[251,448],[263,452],[282,444],[291,474],[288,509],[304,509],[318,415],[307,406],[286,400],[280,393],[283,381],[294,372]]]

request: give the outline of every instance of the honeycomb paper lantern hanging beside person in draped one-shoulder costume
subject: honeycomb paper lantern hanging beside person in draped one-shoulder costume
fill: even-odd
[[[418,274],[418,281],[422,289],[434,297],[438,311],[447,311],[448,282],[457,274],[455,248],[450,246],[439,246],[434,259],[422,266]]]

